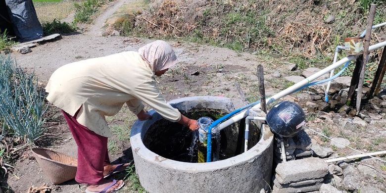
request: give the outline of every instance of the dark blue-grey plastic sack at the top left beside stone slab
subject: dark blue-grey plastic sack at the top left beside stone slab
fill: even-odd
[[[36,15],[32,0],[5,0],[13,30],[20,42],[43,36],[43,28]]]

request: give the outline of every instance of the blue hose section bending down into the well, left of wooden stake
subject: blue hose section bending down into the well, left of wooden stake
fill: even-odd
[[[206,162],[211,162],[211,160],[212,160],[212,129],[214,127],[216,127],[218,124],[220,124],[221,122],[223,122],[224,120],[228,119],[229,117],[241,112],[242,110],[244,110],[246,108],[254,106],[258,103],[260,103],[260,100],[257,100],[256,102],[250,103],[250,104],[243,106],[241,108],[238,108],[238,109],[228,113],[227,115],[215,120],[211,125],[209,125],[207,139],[206,139],[206,142],[207,142],[207,145],[206,145]]]

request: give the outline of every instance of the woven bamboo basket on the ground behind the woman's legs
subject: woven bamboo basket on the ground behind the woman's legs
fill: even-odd
[[[33,148],[32,153],[53,184],[60,184],[75,178],[78,165],[75,157],[43,148]]]

